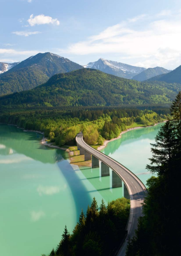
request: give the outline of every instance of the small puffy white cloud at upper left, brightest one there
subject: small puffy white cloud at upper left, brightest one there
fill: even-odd
[[[52,17],[45,16],[44,14],[37,15],[35,17],[32,14],[27,21],[31,27],[35,25],[44,25],[44,24],[60,25],[60,22],[58,19],[53,19]]]

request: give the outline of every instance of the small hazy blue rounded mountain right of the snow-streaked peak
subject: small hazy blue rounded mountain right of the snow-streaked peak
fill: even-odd
[[[147,68],[146,70],[142,71],[138,75],[133,76],[133,80],[137,81],[145,81],[149,78],[152,78],[154,76],[162,75],[169,73],[171,70],[161,68],[161,67],[156,67],[156,68]]]

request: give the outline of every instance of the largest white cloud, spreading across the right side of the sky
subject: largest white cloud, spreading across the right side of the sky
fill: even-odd
[[[115,53],[121,59],[129,59],[132,65],[176,68],[181,64],[181,13],[168,14],[170,11],[163,11],[154,17],[143,14],[128,19],[85,41],[59,49],[59,53]]]

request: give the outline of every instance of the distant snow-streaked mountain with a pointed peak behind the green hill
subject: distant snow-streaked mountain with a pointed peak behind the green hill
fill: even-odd
[[[141,73],[146,68],[134,67],[121,62],[105,60],[100,58],[98,61],[90,62],[83,66],[84,68],[98,69],[107,74],[131,79],[133,76]]]

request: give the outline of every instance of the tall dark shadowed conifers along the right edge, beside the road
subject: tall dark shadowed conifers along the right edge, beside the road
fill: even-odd
[[[171,106],[172,120],[165,123],[152,144],[152,158],[146,168],[157,177],[147,180],[144,216],[129,241],[126,256],[179,256],[181,218],[181,92]]]

